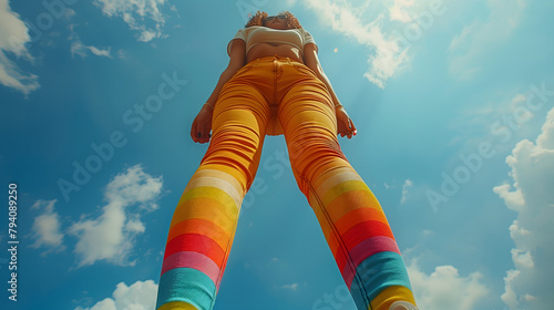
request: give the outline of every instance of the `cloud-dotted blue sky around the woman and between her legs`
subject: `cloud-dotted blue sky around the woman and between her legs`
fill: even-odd
[[[20,241],[17,302],[1,251],[1,308],[153,309],[207,148],[189,126],[258,9],[315,37],[358,127],[342,151],[421,309],[551,309],[554,3],[540,0],[0,0],[0,244],[10,183]],[[283,136],[264,147],[215,309],[355,309]]]

